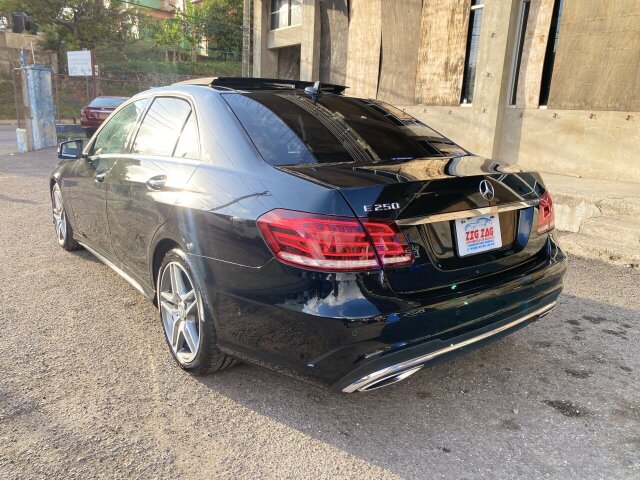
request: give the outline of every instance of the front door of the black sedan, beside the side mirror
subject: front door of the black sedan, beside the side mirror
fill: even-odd
[[[79,159],[69,181],[75,233],[81,241],[111,253],[106,213],[109,173],[127,147],[127,139],[147,100],[125,106],[111,117],[88,146],[88,156]]]

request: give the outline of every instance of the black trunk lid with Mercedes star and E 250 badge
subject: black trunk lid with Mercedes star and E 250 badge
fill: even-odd
[[[475,156],[424,158],[369,166],[279,167],[309,181],[338,189],[360,218],[394,220],[414,256],[408,267],[386,268],[398,293],[458,288],[487,275],[544,256],[546,234],[538,235],[537,204],[544,186],[539,175]],[[482,187],[488,185],[489,192]],[[496,248],[465,252],[459,229],[491,217]],[[482,229],[481,229],[482,230]],[[461,240],[462,238],[462,240]]]

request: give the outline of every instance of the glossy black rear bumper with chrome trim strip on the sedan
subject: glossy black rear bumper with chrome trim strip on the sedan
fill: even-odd
[[[222,350],[343,392],[366,390],[365,377],[460,355],[546,314],[562,291],[566,256],[552,237],[540,253],[492,280],[412,296],[385,289],[376,274],[286,276],[300,270],[275,261],[251,271],[210,261],[202,268],[207,279],[247,285],[211,291]]]

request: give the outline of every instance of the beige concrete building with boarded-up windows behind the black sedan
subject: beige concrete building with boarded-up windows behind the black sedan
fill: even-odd
[[[254,0],[253,74],[349,86],[478,155],[640,182],[638,0]]]

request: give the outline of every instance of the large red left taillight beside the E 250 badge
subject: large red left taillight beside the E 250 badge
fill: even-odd
[[[257,223],[276,258],[296,267],[353,272],[413,262],[394,222],[277,209]]]

